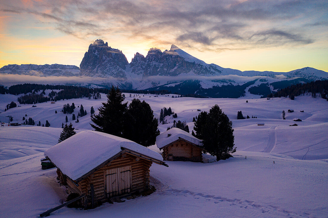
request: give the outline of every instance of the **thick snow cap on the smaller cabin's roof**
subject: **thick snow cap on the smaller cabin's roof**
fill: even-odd
[[[169,134],[171,135],[169,136]],[[178,140],[179,138],[183,138],[195,145],[203,146],[202,140],[196,138],[190,133],[187,133],[186,131],[183,131],[179,128],[172,128],[156,137],[157,148],[163,148],[166,145]]]

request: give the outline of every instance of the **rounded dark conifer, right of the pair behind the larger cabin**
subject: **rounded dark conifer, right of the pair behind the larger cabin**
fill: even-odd
[[[158,120],[154,118],[150,105],[133,99],[125,114],[123,137],[145,147],[154,145],[160,132],[157,129]]]

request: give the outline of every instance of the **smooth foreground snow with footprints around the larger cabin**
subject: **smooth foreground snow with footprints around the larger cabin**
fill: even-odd
[[[296,160],[259,152],[236,152],[234,156],[207,164],[169,162],[168,168],[153,164],[150,173],[155,193],[92,210],[64,207],[51,216],[326,216],[327,160]],[[65,201],[56,170],[41,170],[42,157],[34,154],[0,161],[1,217],[37,217]]]

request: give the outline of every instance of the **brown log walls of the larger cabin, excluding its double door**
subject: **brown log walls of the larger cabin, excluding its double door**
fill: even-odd
[[[107,199],[106,193],[106,171],[114,168],[132,166],[132,191],[144,191],[149,188],[149,168],[153,162],[138,158],[130,154],[125,157],[118,157],[103,168],[89,175],[86,179],[79,182],[81,193],[88,193],[90,184],[93,184],[97,200]],[[69,184],[68,184],[69,185]],[[69,186],[71,186],[70,184]]]

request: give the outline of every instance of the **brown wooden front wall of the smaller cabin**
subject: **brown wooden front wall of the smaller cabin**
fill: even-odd
[[[202,161],[202,149],[184,140],[179,140],[163,149],[164,160],[174,160],[174,157],[185,157],[191,161],[200,162]]]

